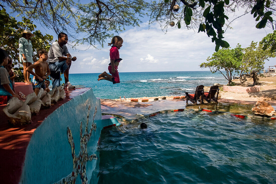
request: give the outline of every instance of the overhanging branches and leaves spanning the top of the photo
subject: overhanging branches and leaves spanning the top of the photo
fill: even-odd
[[[73,0],[0,0],[14,12],[28,19],[38,20],[41,25],[68,33],[76,44],[95,46],[106,38],[119,33],[126,26],[139,26],[141,17],[148,16],[149,23],[160,23],[166,30],[172,21],[178,28],[198,29],[211,36],[217,51],[229,44],[223,40],[227,29],[228,14],[244,9],[253,14],[256,27],[274,28],[276,0],[106,0],[82,3]],[[174,6],[180,6],[174,11]],[[227,25],[227,26],[226,26]],[[225,29],[224,29],[225,28]]]

